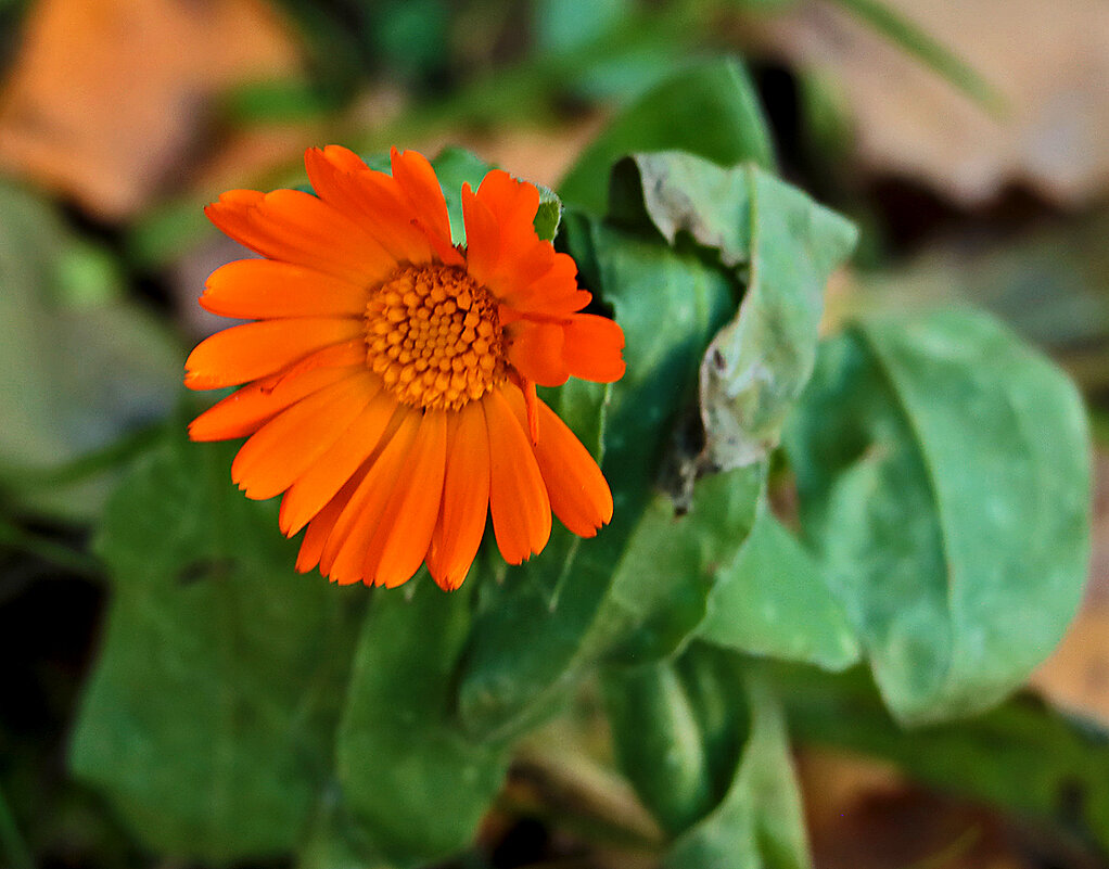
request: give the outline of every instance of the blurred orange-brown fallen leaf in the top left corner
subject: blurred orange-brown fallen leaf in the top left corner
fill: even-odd
[[[128,217],[180,177],[228,86],[299,64],[261,0],[40,0],[0,93],[0,167]]]

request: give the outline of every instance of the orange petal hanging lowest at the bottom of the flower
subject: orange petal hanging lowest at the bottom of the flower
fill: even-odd
[[[458,411],[448,440],[442,509],[427,568],[439,587],[454,591],[474,563],[489,512],[489,434],[480,403]]]

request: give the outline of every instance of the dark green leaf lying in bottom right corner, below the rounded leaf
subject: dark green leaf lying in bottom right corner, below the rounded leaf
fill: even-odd
[[[861,669],[775,668],[790,729],[806,743],[892,760],[936,788],[1015,814],[1109,855],[1109,732],[1018,694],[978,717],[905,732]]]

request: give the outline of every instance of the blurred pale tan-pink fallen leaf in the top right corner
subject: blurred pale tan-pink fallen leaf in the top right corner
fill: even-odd
[[[838,83],[857,155],[966,205],[1024,182],[1090,202],[1109,186],[1109,4],[1102,0],[883,0],[1000,92],[993,115],[830,2],[759,23],[763,51]]]

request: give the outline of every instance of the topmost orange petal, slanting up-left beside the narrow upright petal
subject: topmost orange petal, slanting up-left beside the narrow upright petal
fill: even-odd
[[[357,221],[398,263],[431,262],[433,247],[415,225],[416,214],[404,204],[395,178],[367,168],[339,145],[308,149],[304,163],[319,197]]]

